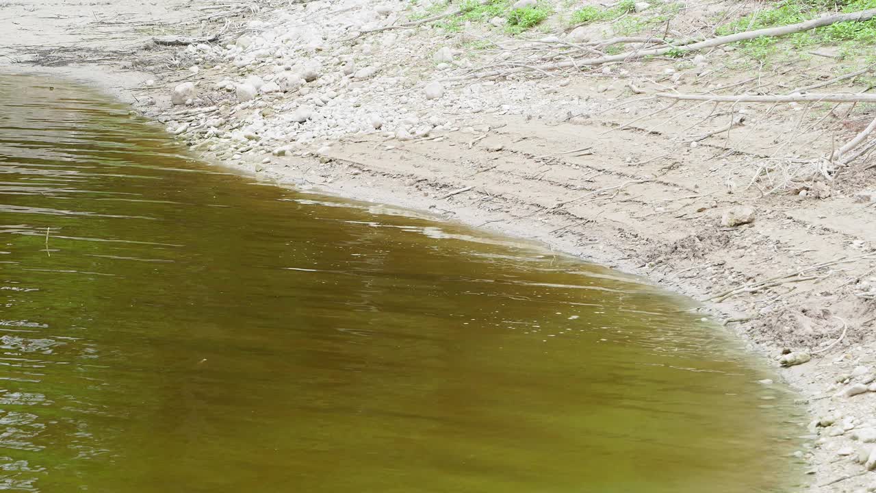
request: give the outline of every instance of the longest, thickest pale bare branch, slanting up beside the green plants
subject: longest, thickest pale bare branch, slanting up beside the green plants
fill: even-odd
[[[824,27],[826,25],[837,24],[838,22],[862,22],[865,20],[870,20],[871,18],[876,17],[876,9],[868,9],[865,11],[853,12],[850,14],[838,14],[835,16],[826,16],[823,18],[815,18],[812,20],[808,20],[806,22],[801,22],[799,24],[792,25],[783,25],[781,27],[770,27],[767,29],[758,29],[756,31],[746,31],[746,32],[738,32],[736,34],[730,34],[728,36],[719,36],[717,38],[706,39],[704,41],[700,41],[697,43],[691,43],[685,46],[666,46],[662,48],[653,48],[648,50],[637,49],[632,52],[625,52],[622,54],[601,56],[597,58],[576,60],[576,61],[561,61],[559,63],[552,63],[546,65],[537,66],[540,70],[555,70],[558,68],[572,68],[572,67],[581,67],[581,66],[592,66],[592,65],[603,65],[605,63],[612,62],[624,62],[631,61],[637,58],[644,58],[646,56],[660,56],[663,54],[668,54],[670,52],[675,54],[684,54],[690,52],[696,52],[699,50],[703,50],[706,48],[713,48],[715,46],[727,45],[730,43],[735,43],[737,41],[744,41],[746,39],[755,39],[760,37],[777,37],[777,36],[785,36],[788,34],[794,34],[795,32],[803,32],[810,31],[812,29],[817,29],[819,27]],[[509,68],[507,70],[496,70],[492,72],[485,72],[477,75],[463,75],[461,77],[451,77],[447,79],[448,81],[461,81],[465,79],[470,79],[472,77],[493,77],[497,75],[508,75],[513,73],[522,72],[525,68]]]

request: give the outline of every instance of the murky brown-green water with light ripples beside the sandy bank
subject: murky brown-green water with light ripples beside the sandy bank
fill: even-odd
[[[683,298],[224,173],[51,83],[0,77],[0,489],[794,485],[788,393]]]

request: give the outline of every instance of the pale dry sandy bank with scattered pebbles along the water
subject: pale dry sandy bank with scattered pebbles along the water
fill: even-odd
[[[674,27],[710,35],[710,15],[760,3],[697,4],[684,4]],[[876,202],[861,194],[876,189],[876,168],[864,155],[824,174],[817,161],[872,111],[670,106],[648,96],[789,94],[851,71],[850,61],[830,46],[766,62],[725,46],[696,61],[478,77],[518,67],[509,60],[521,53],[541,54],[527,39],[569,39],[568,23],[552,18],[544,32],[519,37],[491,25],[366,32],[405,22],[409,9],[353,0],[6,2],[0,70],[88,80],[208,160],[259,179],[536,239],[702,300],[698,310],[777,367],[788,352],[811,357],[780,369],[812,415],[802,430],[811,441],[798,454],[810,490],[874,490],[876,473],[863,463],[876,441],[876,391],[866,389],[876,368]],[[191,46],[150,41],[215,33],[218,42]],[[436,56],[444,46],[449,53]],[[297,75],[312,80],[241,93]],[[189,101],[172,105],[185,82],[194,84],[182,95]],[[432,82],[441,95],[427,98]],[[851,77],[820,88],[869,89]],[[738,207],[752,208],[754,220],[722,225]]]

